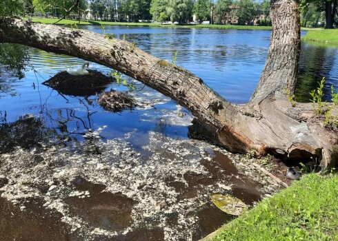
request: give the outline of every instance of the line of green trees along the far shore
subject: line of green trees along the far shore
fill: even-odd
[[[326,28],[334,28],[338,24],[335,20],[337,1],[300,0],[301,25],[325,24]],[[199,22],[229,23],[230,16],[241,25],[252,25],[255,19],[259,19],[259,25],[270,25],[270,0],[3,0],[0,1],[0,14],[62,17],[77,2],[79,5],[72,9],[69,18],[77,18],[79,13],[90,10],[93,19],[103,21],[143,19],[187,23],[195,15]]]

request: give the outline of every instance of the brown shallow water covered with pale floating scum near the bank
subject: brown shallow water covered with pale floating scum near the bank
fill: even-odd
[[[1,154],[5,240],[198,240],[235,218],[212,194],[252,205],[277,189],[240,156],[230,160],[199,140],[150,132],[137,151],[131,134],[103,142],[100,131],[76,151],[42,145]]]

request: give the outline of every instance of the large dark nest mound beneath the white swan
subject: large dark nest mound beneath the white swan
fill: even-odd
[[[88,70],[89,74],[71,75],[63,71],[55,74],[43,85],[52,87],[61,94],[72,96],[92,96],[106,89],[106,85],[114,79],[96,70]]]

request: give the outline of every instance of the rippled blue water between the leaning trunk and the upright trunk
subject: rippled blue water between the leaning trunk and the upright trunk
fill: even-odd
[[[103,32],[100,26],[90,30]],[[263,70],[270,31],[106,27],[160,59],[172,61],[201,77],[228,101],[246,103]],[[128,33],[128,34],[127,34]],[[246,85],[243,88],[243,84]]]

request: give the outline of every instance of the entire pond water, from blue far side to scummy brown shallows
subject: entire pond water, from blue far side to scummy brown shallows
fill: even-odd
[[[105,32],[170,62],[177,51],[177,65],[234,103],[248,102],[270,38],[269,31],[243,30],[106,26]],[[307,101],[322,76],[326,92],[337,88],[337,61],[337,48],[304,43],[297,98]],[[277,189],[243,167],[240,156],[190,140],[190,112],[136,81],[129,80],[138,107],[119,113],[105,111],[97,95],[68,96],[41,84],[82,63],[32,49],[24,78],[0,76],[4,240],[198,240],[234,218],[212,205],[212,194],[252,205]],[[110,72],[96,63],[90,68]],[[110,89],[128,90],[117,83]]]

